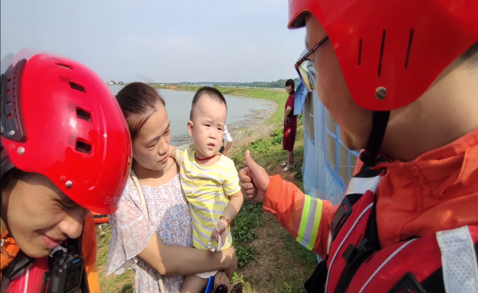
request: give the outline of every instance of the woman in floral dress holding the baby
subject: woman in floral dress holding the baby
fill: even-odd
[[[193,225],[179,166],[168,156],[171,132],[165,101],[142,82],[123,87],[116,99],[130,128],[131,174],[136,178],[127,180],[118,210],[109,216],[106,275],[134,269],[134,292],[179,293],[184,275],[219,270],[214,280],[218,287],[236,270],[236,249],[213,254],[192,247]]]

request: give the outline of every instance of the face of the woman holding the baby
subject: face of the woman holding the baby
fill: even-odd
[[[163,170],[168,166],[168,150],[171,141],[170,121],[166,107],[157,103],[156,111],[143,124],[133,141],[133,158],[143,168]]]

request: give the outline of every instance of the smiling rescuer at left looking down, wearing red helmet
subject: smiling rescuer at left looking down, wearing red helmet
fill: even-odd
[[[125,118],[105,82],[78,62],[25,49],[3,65],[1,292],[41,292],[53,251],[74,245],[87,278],[71,272],[60,283],[99,293],[89,211],[118,207],[132,161]]]

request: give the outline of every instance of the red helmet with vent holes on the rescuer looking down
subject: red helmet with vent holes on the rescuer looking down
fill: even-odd
[[[64,57],[36,54],[7,65],[1,76],[1,176],[12,166],[37,172],[80,206],[116,211],[132,147],[112,91],[87,66]]]

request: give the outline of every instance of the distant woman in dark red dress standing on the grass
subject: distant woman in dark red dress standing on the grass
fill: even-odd
[[[287,91],[287,94],[289,94],[289,98],[287,98],[287,102],[285,102],[284,138],[282,141],[283,150],[287,150],[287,165],[284,167],[284,172],[290,168],[294,168],[295,163],[294,143],[295,134],[297,132],[297,115],[294,115],[294,80],[287,80],[287,82],[285,82],[285,91]]]

